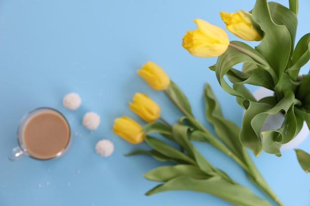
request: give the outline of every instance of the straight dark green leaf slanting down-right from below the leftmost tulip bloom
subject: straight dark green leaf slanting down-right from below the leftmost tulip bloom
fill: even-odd
[[[170,159],[183,161],[183,162],[187,162],[188,164],[196,165],[196,162],[192,158],[188,157],[184,153],[174,149],[173,147],[169,146],[168,144],[164,143],[163,141],[155,137],[151,137],[147,135],[145,137],[145,141],[154,150],[156,150],[157,152],[161,153],[162,155]]]

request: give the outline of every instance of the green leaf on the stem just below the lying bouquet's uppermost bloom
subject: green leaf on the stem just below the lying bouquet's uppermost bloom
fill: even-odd
[[[174,82],[170,81],[170,84],[165,91],[173,102],[180,105],[186,112],[193,116],[191,105],[187,97]]]

